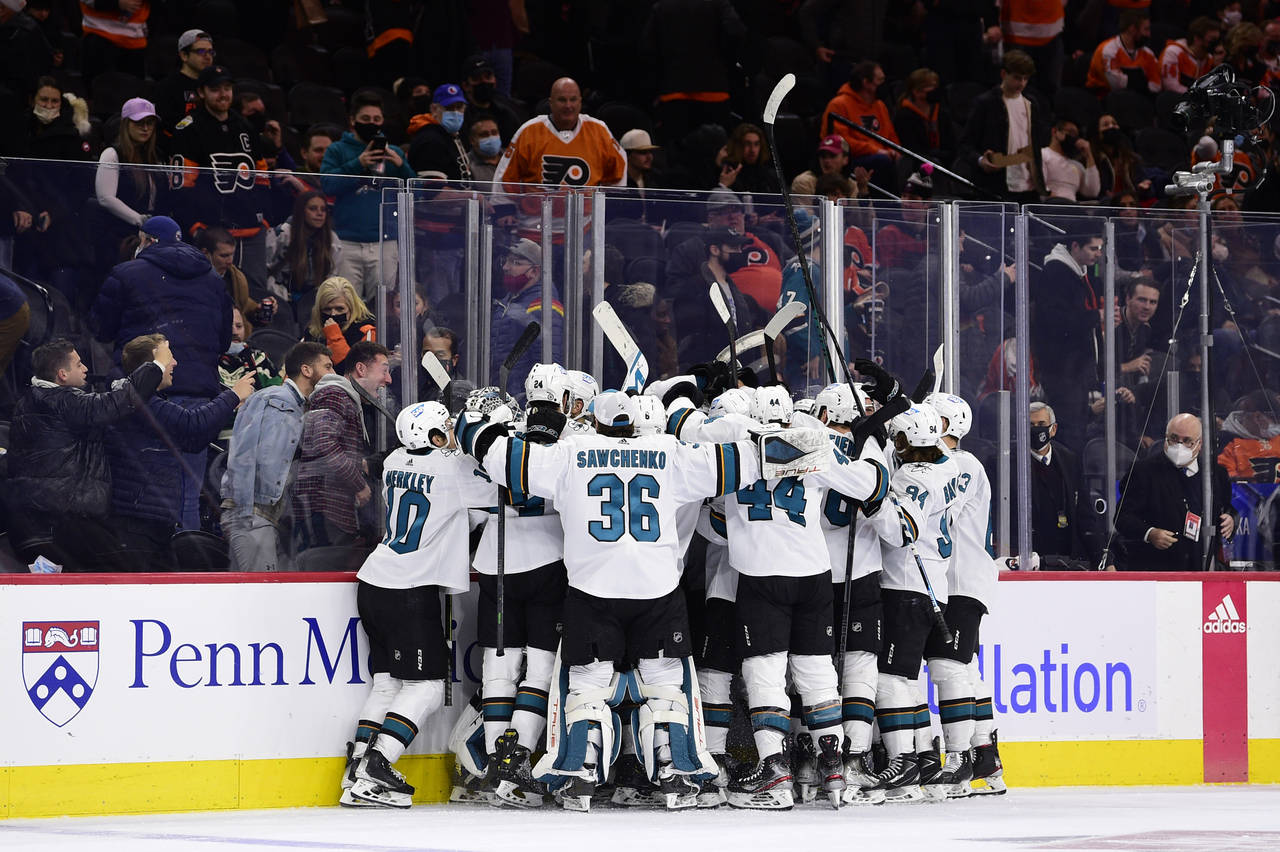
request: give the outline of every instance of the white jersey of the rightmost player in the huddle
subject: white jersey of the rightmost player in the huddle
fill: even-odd
[[[996,548],[991,528],[991,481],[973,453],[954,449],[947,455],[960,468],[956,503],[951,512],[951,553],[948,583],[952,595],[973,597],[989,606],[996,594],[1000,569],[992,562]]]

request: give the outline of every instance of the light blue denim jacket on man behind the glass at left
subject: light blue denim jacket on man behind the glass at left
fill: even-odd
[[[292,381],[259,390],[236,417],[223,475],[223,499],[233,514],[275,505],[284,496],[293,453],[302,438],[303,399]]]

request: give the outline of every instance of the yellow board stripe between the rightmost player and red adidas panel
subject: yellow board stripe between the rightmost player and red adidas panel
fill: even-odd
[[[1005,783],[1015,787],[1201,784],[1201,739],[1002,742]]]

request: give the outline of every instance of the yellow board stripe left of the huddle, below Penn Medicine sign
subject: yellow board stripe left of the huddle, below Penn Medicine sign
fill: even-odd
[[[165,814],[338,803],[342,757],[196,760],[0,768],[0,815]],[[404,755],[396,762],[415,802],[449,798],[453,755]]]

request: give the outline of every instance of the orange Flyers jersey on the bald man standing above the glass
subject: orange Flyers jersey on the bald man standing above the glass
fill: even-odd
[[[550,118],[539,115],[516,130],[493,175],[504,183],[541,183],[571,187],[622,187],[627,156],[604,122],[580,115],[572,130],[557,130]]]

